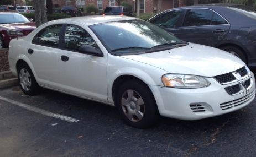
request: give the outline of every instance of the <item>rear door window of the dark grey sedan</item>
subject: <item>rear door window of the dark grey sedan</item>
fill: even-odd
[[[211,25],[213,13],[208,9],[189,9],[185,15],[183,26]]]

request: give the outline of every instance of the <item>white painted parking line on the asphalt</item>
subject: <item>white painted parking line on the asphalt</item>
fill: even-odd
[[[64,116],[64,115],[60,115],[60,114],[56,114],[56,113],[53,113],[53,112],[49,112],[49,111],[45,111],[43,109],[39,109],[37,107],[34,107],[34,106],[30,106],[30,105],[27,105],[27,104],[23,104],[22,102],[18,102],[18,101],[15,101],[15,100],[12,100],[12,99],[8,99],[8,98],[4,98],[2,96],[0,96],[0,100],[3,100],[3,101],[6,101],[6,102],[9,102],[13,105],[17,105],[19,107],[22,107],[24,109],[27,109],[29,111],[33,111],[33,112],[36,112],[36,113],[40,113],[41,115],[45,115],[45,116],[49,116],[49,117],[54,117],[54,118],[58,118],[60,120],[63,120],[63,121],[67,121],[67,122],[78,122],[79,120],[76,120],[75,118],[71,118],[71,117],[68,117],[68,116]]]

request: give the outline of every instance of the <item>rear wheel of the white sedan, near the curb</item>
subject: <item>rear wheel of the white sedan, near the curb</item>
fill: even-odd
[[[40,87],[35,80],[34,74],[28,64],[21,63],[18,66],[18,81],[20,88],[26,95],[36,95],[40,91]]]

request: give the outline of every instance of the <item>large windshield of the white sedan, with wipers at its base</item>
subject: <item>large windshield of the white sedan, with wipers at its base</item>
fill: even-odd
[[[143,20],[126,20],[90,26],[108,51],[113,55],[148,53],[159,48],[176,48],[187,45],[165,30]],[[182,43],[182,44],[181,44]]]

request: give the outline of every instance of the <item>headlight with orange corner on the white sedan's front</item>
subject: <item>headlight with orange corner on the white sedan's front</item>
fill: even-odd
[[[173,88],[202,88],[210,85],[207,79],[186,74],[165,74],[162,76],[164,86]]]

